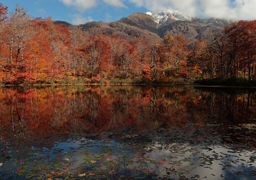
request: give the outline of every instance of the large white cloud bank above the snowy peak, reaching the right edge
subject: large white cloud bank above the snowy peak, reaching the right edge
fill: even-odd
[[[256,0],[129,0],[149,11],[175,9],[195,17],[256,19]]]

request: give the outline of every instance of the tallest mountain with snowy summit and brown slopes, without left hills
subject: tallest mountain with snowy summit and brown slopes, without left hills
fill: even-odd
[[[151,31],[160,37],[166,34],[183,34],[190,41],[205,39],[208,33],[220,31],[234,20],[218,18],[201,19],[177,10],[133,13],[118,22]]]

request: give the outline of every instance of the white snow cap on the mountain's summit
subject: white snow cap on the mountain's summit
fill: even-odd
[[[158,26],[161,26],[169,18],[181,21],[191,21],[193,18],[195,18],[192,15],[188,15],[183,12],[178,12],[177,10],[173,9],[168,9],[162,12],[145,12],[145,14],[151,15],[154,21],[158,23]]]

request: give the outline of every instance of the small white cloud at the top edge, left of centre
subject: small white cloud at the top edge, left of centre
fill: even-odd
[[[79,12],[98,6],[99,0],[59,0],[66,6],[74,6]]]

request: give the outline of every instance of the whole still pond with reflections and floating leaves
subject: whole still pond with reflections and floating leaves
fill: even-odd
[[[0,179],[255,179],[256,89],[0,89]]]

